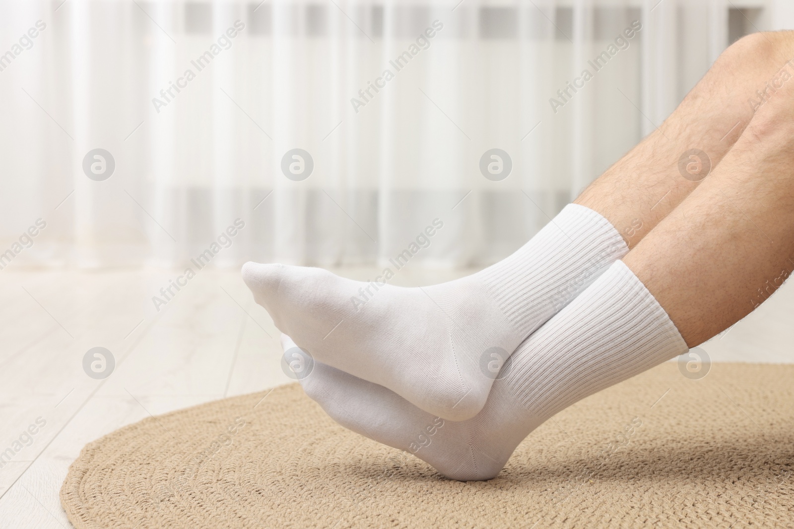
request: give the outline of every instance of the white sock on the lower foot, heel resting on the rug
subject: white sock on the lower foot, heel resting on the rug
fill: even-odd
[[[282,343],[285,354],[297,351],[288,336]],[[300,382],[342,426],[407,450],[446,477],[484,480],[550,416],[686,351],[665,310],[618,261],[518,347],[470,420],[443,420],[319,362]]]

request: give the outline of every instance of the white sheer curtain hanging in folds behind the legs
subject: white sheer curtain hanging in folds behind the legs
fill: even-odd
[[[490,263],[731,40],[792,17],[727,0],[6,2],[0,266],[181,266],[212,243],[214,266],[382,263],[436,219],[416,259]],[[83,169],[97,148],[104,180]],[[302,180],[282,171],[296,148]],[[492,148],[512,163],[500,181],[480,171]]]

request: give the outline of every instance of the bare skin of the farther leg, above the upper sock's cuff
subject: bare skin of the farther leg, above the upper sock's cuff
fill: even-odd
[[[761,102],[774,96],[777,89],[771,81],[794,59],[792,35],[754,33],[731,45],[665,122],[575,203],[606,217],[634,247],[705,176],[684,173],[684,178],[679,169],[682,155],[691,149],[703,151],[713,170],[753,117],[750,99]],[[700,162],[707,170],[709,160]]]

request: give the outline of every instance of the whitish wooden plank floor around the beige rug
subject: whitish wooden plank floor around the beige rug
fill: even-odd
[[[404,269],[394,284],[468,272]],[[280,368],[279,332],[236,270],[202,270],[156,312],[152,296],[176,275],[0,271],[0,453],[46,421],[0,468],[0,527],[71,527],[58,493],[91,440],[149,415],[291,382]],[[788,285],[703,349],[713,361],[794,362],[792,315]],[[96,346],[116,360],[104,380],[83,372],[83,355]]]

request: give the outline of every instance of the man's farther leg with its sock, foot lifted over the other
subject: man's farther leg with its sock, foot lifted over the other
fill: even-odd
[[[692,190],[695,183],[677,171],[679,153],[703,145],[713,158],[722,157],[750,113],[744,105],[752,87],[763,87],[784,65],[787,51],[766,49],[767,41],[761,35],[732,46],[668,120],[667,132],[654,133],[583,194],[585,207],[567,206],[486,270],[422,289],[256,263],[246,264],[244,278],[279,330],[319,362],[384,385],[445,419],[468,419],[491,389],[480,376],[483,358],[492,351],[501,351],[502,359],[511,355],[580,286],[625,255],[620,238],[631,240],[626,229],[639,234],[635,219],[650,228]],[[746,75],[738,75],[742,65]]]

